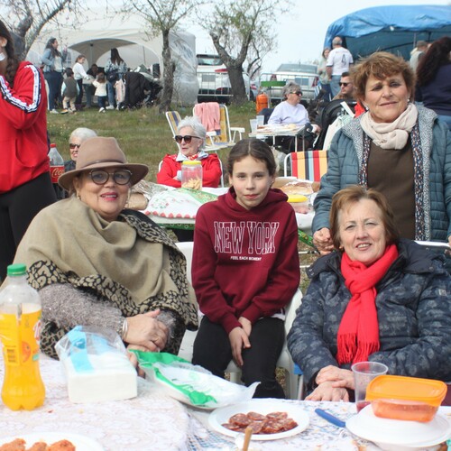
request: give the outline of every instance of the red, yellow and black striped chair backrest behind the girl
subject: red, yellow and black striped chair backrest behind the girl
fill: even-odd
[[[291,176],[297,179],[319,181],[327,172],[327,151],[291,152],[285,157],[284,175],[288,176],[288,160]]]

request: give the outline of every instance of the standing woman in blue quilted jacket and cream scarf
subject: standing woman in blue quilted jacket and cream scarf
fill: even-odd
[[[451,134],[432,110],[411,103],[409,63],[386,52],[362,60],[352,73],[355,97],[368,110],[340,129],[315,199],[313,240],[333,249],[332,197],[348,185],[381,191],[400,236],[451,242]]]

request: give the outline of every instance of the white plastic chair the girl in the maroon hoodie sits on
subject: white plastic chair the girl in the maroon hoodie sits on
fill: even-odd
[[[191,282],[193,243],[192,242],[177,243],[177,246],[187,259],[187,277],[189,282]],[[302,301],[302,293],[298,289],[296,290],[296,293],[291,299],[290,304],[286,308],[285,336],[288,335],[291,325],[293,324],[294,318],[296,318],[296,310],[299,308],[301,301]],[[191,362],[192,360],[193,345],[194,339],[196,338],[196,334],[197,334],[196,331],[187,330],[185,332],[185,336],[183,336],[183,340],[180,345],[179,357],[182,357],[185,360],[188,360],[189,362]],[[279,360],[277,361],[277,366],[285,370],[285,382],[286,382],[285,393],[287,395],[287,398],[293,400],[298,399],[300,392],[299,384],[300,386],[302,386],[303,378],[302,375],[300,375],[299,377],[299,375],[295,373],[294,362],[288,350],[286,338],[285,343],[283,344],[281,355],[279,356]],[[231,382],[241,383],[241,370],[235,365],[233,360],[230,362],[230,364],[228,364],[226,368],[226,373],[230,373]]]

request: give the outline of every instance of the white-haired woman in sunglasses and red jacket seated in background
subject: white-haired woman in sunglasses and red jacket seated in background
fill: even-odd
[[[179,144],[179,153],[165,155],[157,174],[157,182],[180,188],[182,161],[199,160],[202,162],[202,186],[217,188],[222,175],[221,164],[216,153],[208,154],[203,150],[206,137],[206,128],[196,118],[185,117],[180,121],[174,137]]]

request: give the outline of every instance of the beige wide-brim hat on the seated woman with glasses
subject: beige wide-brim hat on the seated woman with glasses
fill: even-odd
[[[77,177],[81,172],[110,167],[130,170],[132,172],[132,179],[130,180],[132,185],[138,183],[149,172],[149,168],[145,164],[127,163],[124,152],[122,152],[115,138],[95,136],[81,143],[75,170],[61,174],[58,184],[61,188],[69,191],[74,177]]]

